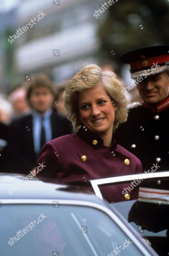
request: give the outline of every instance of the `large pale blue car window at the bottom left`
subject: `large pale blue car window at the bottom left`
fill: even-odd
[[[2,205],[0,255],[140,256],[103,211],[84,206]]]

